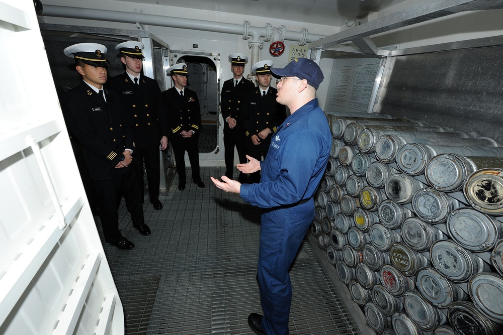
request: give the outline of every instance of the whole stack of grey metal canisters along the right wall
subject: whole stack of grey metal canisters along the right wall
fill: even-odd
[[[327,120],[311,233],[369,326],[503,333],[503,148],[389,116]]]

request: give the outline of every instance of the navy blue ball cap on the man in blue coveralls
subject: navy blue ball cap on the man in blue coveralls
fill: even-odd
[[[323,72],[318,64],[308,58],[295,58],[283,68],[271,68],[273,77],[297,77],[299,79],[306,79],[307,83],[318,89],[319,84],[323,81]]]

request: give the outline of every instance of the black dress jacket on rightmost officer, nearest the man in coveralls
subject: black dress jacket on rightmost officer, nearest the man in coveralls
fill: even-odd
[[[276,101],[278,90],[269,87],[265,96],[261,95],[259,87],[246,92],[242,107],[242,123],[244,134],[246,135],[246,147],[255,151],[267,151],[271,143],[271,137],[276,132],[276,128],[286,119],[286,108]],[[251,136],[269,128],[271,134],[266,139],[260,139],[260,144],[251,142]]]

